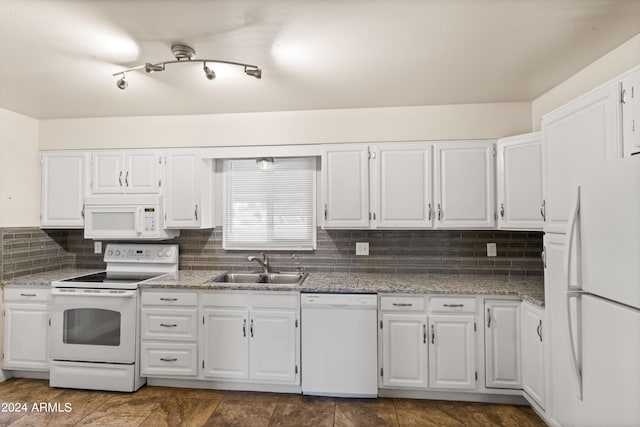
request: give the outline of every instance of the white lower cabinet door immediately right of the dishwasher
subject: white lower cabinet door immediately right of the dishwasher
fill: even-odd
[[[382,315],[382,384],[427,388],[427,316]]]

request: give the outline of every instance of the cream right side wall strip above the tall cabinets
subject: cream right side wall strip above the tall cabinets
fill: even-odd
[[[640,34],[580,70],[531,103],[533,130],[540,130],[542,116],[640,65]]]

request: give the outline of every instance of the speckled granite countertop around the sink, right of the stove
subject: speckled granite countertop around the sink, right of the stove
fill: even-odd
[[[180,270],[149,280],[141,288],[236,289],[333,293],[399,293],[452,295],[513,295],[544,305],[542,277],[481,275],[309,273],[300,286],[266,283],[211,282],[225,273],[216,270]]]

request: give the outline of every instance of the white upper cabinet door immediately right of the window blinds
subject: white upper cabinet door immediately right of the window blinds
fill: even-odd
[[[324,147],[322,154],[324,228],[369,227],[369,148]]]

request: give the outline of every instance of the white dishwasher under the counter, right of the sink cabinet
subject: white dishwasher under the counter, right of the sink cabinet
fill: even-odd
[[[378,395],[378,298],[375,294],[305,294],[302,393]]]

